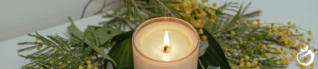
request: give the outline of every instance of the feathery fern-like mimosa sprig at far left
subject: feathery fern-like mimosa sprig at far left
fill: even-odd
[[[35,42],[21,42],[17,45],[36,45],[32,47],[27,47],[24,49],[17,50],[18,53],[29,51],[37,48],[38,52],[35,52],[31,55],[21,55],[25,59],[30,59],[31,63],[22,67],[22,69],[33,69],[34,67],[44,68],[77,68],[81,65],[84,65],[84,62],[88,57],[93,56],[91,53],[92,46],[84,47],[84,42],[79,41],[78,39],[64,39],[59,37],[59,35],[46,35],[47,38],[41,36],[36,32],[35,34],[28,34],[28,36],[35,37]],[[85,36],[83,37],[85,41]],[[41,42],[38,42],[41,41]],[[72,42],[72,43],[69,43]],[[79,44],[81,42],[81,44]],[[41,49],[43,46],[47,46]],[[74,48],[72,49],[71,46]],[[52,47],[52,48],[51,48]],[[51,48],[51,49],[50,49]],[[47,51],[48,50],[48,51]],[[45,52],[46,51],[46,52]],[[45,52],[45,53],[43,53]]]

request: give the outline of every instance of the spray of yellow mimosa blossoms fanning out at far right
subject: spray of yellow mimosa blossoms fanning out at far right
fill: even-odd
[[[257,24],[253,22],[257,22]],[[297,53],[300,52],[300,49],[304,49],[305,46],[308,45],[308,49],[316,52],[316,49],[309,45],[311,37],[304,40],[306,37],[304,35],[312,35],[310,30],[300,28],[290,21],[285,22],[287,25],[280,23],[260,23],[258,18],[253,22],[248,23],[247,21],[243,21],[243,23],[240,23],[239,21],[235,21],[235,27],[237,28],[229,30],[228,36],[226,37],[237,39],[231,42],[228,42],[227,39],[219,39],[226,40],[220,43],[222,43],[224,47],[223,51],[226,56],[232,58],[229,60],[232,61],[231,65],[234,68],[286,69],[287,64],[296,60]],[[243,31],[237,31],[240,28],[245,29]],[[306,33],[301,33],[300,30]],[[241,32],[244,32],[245,35],[252,34],[251,36],[255,36],[244,37],[244,35],[239,34]],[[275,46],[278,47],[272,47],[272,44],[276,44]],[[288,54],[290,54],[291,57],[288,57]],[[297,60],[295,62],[297,62]],[[308,57],[302,58],[301,62],[308,63]],[[299,64],[299,66],[301,69],[306,69],[307,67],[301,64]],[[313,67],[314,63],[312,63],[309,68],[313,69]]]

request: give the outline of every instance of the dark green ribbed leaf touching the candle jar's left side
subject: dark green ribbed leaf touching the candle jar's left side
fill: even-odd
[[[118,63],[119,69],[134,69],[131,37],[122,39],[109,51],[108,55]],[[105,61],[104,66],[106,65]]]

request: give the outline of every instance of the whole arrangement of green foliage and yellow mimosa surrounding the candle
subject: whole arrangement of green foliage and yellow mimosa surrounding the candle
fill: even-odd
[[[86,7],[92,1],[89,0],[86,4],[81,18]],[[250,13],[245,12],[251,3],[243,8],[243,4],[232,2],[216,7],[216,3],[210,5],[207,0],[201,0],[200,2],[197,0],[123,1],[125,7],[115,9],[113,13],[108,14],[102,9],[118,1],[106,4],[105,0],[102,8],[95,14],[102,13],[105,14],[102,16],[103,18],[111,17],[113,19],[100,22],[99,24],[103,27],[88,26],[84,33],[79,31],[69,17],[72,22],[72,25],[68,27],[68,30],[72,33],[72,37],[68,37],[69,39],[54,34],[46,35],[50,39],[48,40],[37,32],[35,35],[29,34],[28,36],[35,37],[35,42],[21,42],[17,45],[35,46],[17,50],[18,53],[33,49],[39,51],[26,56],[18,54],[22,58],[31,60],[31,63],[23,66],[22,69],[93,69],[93,67],[95,67],[94,69],[131,69],[133,68],[132,52],[130,52],[132,47],[131,35],[134,28],[144,21],[162,16],[176,17],[191,23],[200,34],[200,42],[208,41],[208,43],[202,43],[208,44],[208,47],[203,49],[206,51],[203,51],[204,54],[199,57],[199,69],[286,68],[289,62],[297,58],[294,53],[299,53],[300,49],[309,45],[311,41],[310,38],[305,41],[304,34],[306,33],[301,33],[301,31],[305,31],[308,35],[311,35],[310,30],[300,28],[290,21],[287,22],[287,25],[283,22],[261,23],[260,19],[255,18],[261,13],[260,10]],[[205,3],[207,3],[207,6],[203,5]],[[229,14],[226,11],[236,14]],[[253,22],[256,22],[256,24]],[[121,31],[127,28],[131,31]],[[282,48],[272,47],[273,44]],[[47,47],[42,48],[44,45]],[[128,51],[123,52],[120,49],[127,49]],[[312,49],[313,52],[316,51],[310,45],[308,49]],[[106,54],[105,51],[109,53]],[[126,54],[127,56],[116,54]],[[291,54],[292,57],[287,57],[288,54]],[[127,62],[117,60],[124,57],[128,57],[128,59],[124,59]],[[307,60],[307,57],[301,59],[302,62]],[[93,63],[97,64],[92,66]],[[314,64],[310,66],[300,65],[300,68],[313,66]]]

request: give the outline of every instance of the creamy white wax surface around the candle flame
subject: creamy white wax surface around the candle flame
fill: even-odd
[[[169,34],[169,48],[163,52],[165,31]],[[135,43],[145,56],[158,61],[179,60],[196,48],[197,38],[193,31],[176,22],[151,23],[138,32]]]

